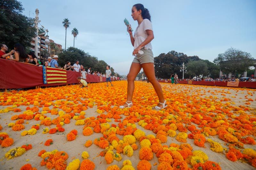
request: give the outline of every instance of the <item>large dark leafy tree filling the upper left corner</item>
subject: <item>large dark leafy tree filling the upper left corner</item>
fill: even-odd
[[[13,49],[16,43],[29,49],[32,38],[36,37],[34,20],[22,15],[22,11],[24,8],[17,0],[0,1],[0,43],[9,49]]]

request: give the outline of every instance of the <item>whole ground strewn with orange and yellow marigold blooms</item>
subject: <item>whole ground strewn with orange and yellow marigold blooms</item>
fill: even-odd
[[[113,85],[0,93],[1,169],[255,169],[255,90]]]

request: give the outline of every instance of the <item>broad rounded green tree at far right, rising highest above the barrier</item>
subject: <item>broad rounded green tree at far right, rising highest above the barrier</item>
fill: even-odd
[[[219,65],[222,71],[236,75],[236,72],[243,72],[253,65],[253,57],[250,53],[231,47],[219,54],[213,62]]]

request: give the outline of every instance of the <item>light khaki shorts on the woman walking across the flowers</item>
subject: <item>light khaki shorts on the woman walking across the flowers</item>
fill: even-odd
[[[141,51],[143,51],[144,54],[137,54],[134,57],[132,63],[139,63],[139,64],[154,63],[154,56],[151,49],[141,48]]]

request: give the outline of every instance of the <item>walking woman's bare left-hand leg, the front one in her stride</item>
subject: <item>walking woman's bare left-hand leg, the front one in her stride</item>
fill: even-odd
[[[140,70],[141,70],[141,65],[139,63],[132,63],[132,65],[130,67],[130,71],[127,75],[127,81],[128,81],[127,101],[132,101],[132,96],[133,96],[133,92],[134,92],[134,80],[135,80],[136,76],[139,74]],[[127,103],[129,103],[129,102],[127,102]],[[127,104],[124,103],[123,106],[127,107]]]

